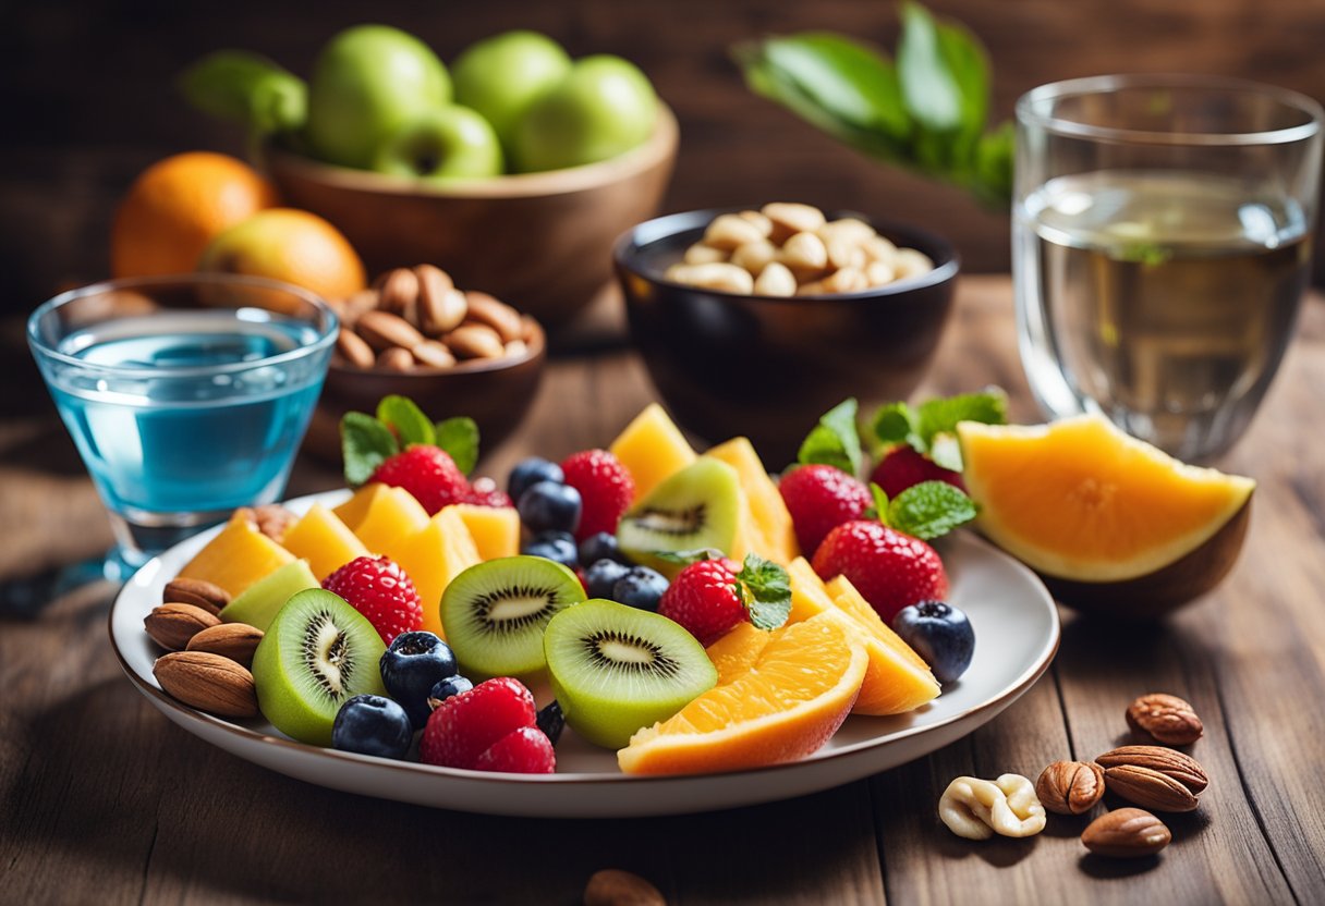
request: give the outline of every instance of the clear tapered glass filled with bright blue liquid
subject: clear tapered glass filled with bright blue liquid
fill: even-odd
[[[335,334],[311,293],[227,274],[97,283],[32,314],[28,344],[110,511],[107,578],[281,495]]]

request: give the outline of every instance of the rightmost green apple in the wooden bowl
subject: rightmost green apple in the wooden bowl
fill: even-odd
[[[653,86],[633,64],[583,57],[517,121],[513,163],[527,172],[615,158],[653,134],[657,106]]]

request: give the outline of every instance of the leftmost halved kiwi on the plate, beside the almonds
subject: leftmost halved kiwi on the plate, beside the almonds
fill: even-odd
[[[331,725],[347,698],[387,694],[378,666],[386,650],[378,630],[343,597],[301,591],[253,653],[258,707],[292,739],[330,746]]]

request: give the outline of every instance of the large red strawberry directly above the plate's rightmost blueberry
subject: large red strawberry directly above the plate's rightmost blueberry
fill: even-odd
[[[881,522],[837,526],[815,552],[814,567],[824,580],[847,576],[884,623],[892,623],[904,607],[947,597],[938,551]]]

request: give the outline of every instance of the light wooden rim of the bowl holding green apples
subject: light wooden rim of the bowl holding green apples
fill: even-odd
[[[270,142],[262,144],[256,156],[261,170],[269,176],[284,168],[306,179],[355,192],[436,199],[525,199],[567,195],[623,181],[674,159],[678,142],[676,114],[659,99],[657,122],[643,144],[607,160],[562,170],[429,183],[323,163]]]

